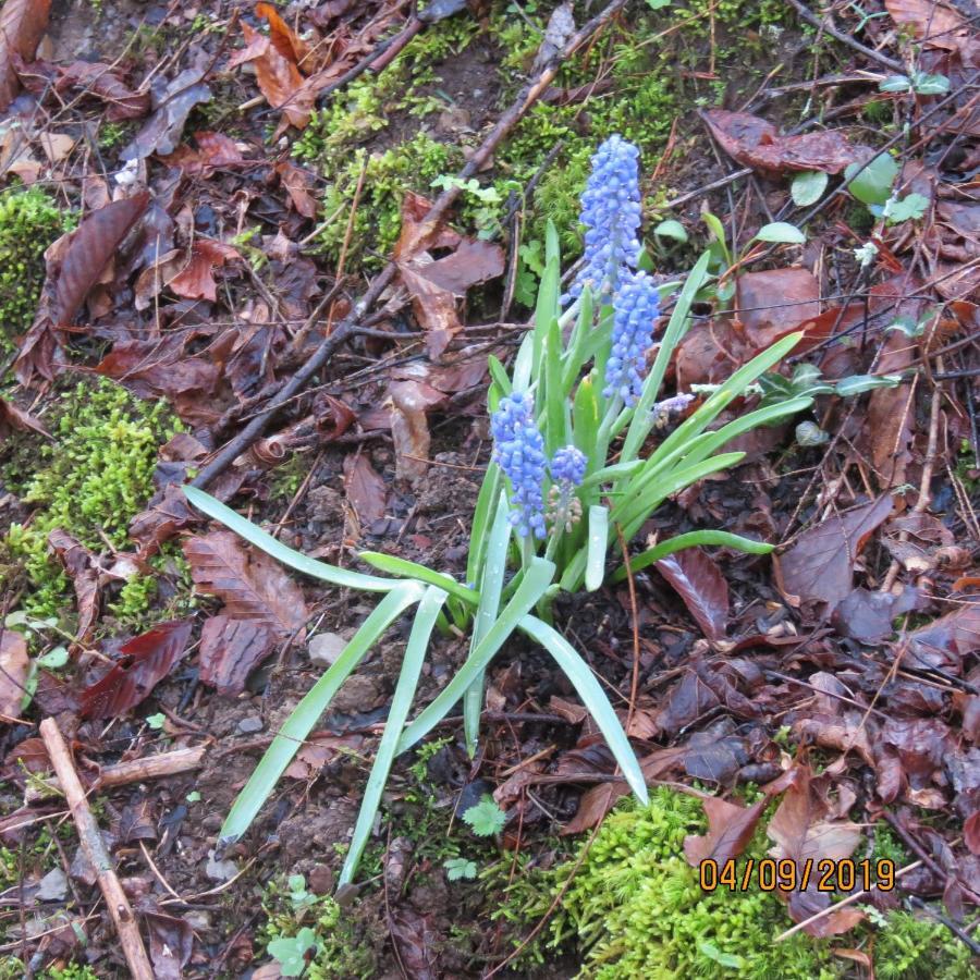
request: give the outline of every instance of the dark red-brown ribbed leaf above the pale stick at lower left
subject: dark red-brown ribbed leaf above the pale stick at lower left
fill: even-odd
[[[82,691],[84,718],[115,718],[135,708],[187,656],[193,620],[160,623],[119,649],[120,660]]]

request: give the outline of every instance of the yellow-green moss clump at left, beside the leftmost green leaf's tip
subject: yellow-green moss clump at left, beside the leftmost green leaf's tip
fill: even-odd
[[[181,430],[166,403],[140,402],[105,379],[69,392],[49,418],[53,443],[37,453],[40,467],[24,482],[22,498],[37,505],[30,522],[11,526],[3,540],[7,558],[26,574],[21,607],[32,615],[57,615],[70,584],[48,555],[48,535],[61,528],[96,551],[107,541],[126,544],[130,520],[152,495],[157,448]],[[23,457],[23,454],[21,454]],[[13,482],[5,474],[8,482]],[[122,601],[136,612],[151,590],[131,583]],[[135,603],[135,604],[134,604]]]

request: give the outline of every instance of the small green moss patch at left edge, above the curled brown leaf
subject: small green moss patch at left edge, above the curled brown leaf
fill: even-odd
[[[0,195],[0,350],[30,326],[45,281],[45,249],[73,226],[36,187]]]

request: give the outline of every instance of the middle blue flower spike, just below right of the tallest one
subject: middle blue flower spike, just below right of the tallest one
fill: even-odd
[[[613,344],[605,362],[605,397],[618,395],[626,405],[636,404],[644,384],[646,352],[653,341],[659,315],[660,293],[653,280],[646,272],[628,272],[613,297]]]

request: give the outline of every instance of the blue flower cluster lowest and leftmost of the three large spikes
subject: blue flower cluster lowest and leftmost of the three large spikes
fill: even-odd
[[[522,538],[544,537],[544,440],[535,425],[534,399],[523,392],[501,399],[490,419],[493,458],[500,464],[514,492],[511,522]]]

